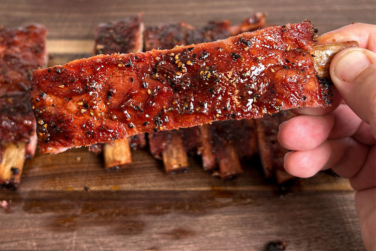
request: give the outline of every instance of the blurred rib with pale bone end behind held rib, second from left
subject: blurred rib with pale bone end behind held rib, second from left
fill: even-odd
[[[142,14],[119,22],[100,24],[96,28],[94,54],[129,53],[143,49]],[[144,134],[106,144],[91,145],[89,150],[100,154],[103,149],[105,169],[116,169],[132,162],[131,150],[146,146]]]

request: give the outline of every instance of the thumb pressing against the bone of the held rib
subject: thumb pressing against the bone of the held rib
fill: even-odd
[[[363,48],[339,52],[330,63],[330,77],[346,104],[376,136],[376,54]]]

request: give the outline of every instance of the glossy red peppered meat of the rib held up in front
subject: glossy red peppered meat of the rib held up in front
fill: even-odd
[[[306,21],[36,70],[31,101],[41,121],[41,152],[280,109],[326,107],[331,93],[314,68],[314,36]]]

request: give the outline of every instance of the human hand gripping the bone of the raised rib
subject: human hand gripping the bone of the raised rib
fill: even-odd
[[[376,26],[351,24],[318,38],[320,44],[349,40],[349,48],[334,56],[330,76],[333,103],[322,110],[294,109],[300,114],[281,124],[279,143],[290,150],[284,166],[288,173],[310,177],[332,168],[349,178],[355,194],[362,239],[376,250]]]

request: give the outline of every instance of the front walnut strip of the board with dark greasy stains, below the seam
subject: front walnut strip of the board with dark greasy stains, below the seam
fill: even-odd
[[[1,250],[364,250],[353,193],[16,192]],[[330,201],[330,203],[328,203]],[[307,216],[309,215],[309,217]],[[16,223],[16,224],[15,224]]]

